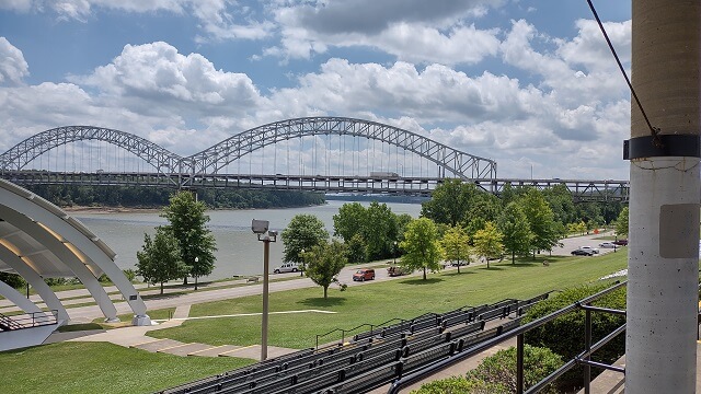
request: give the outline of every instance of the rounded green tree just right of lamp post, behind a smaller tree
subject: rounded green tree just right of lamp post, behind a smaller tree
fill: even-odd
[[[285,243],[283,262],[303,263],[302,250],[311,251],[315,245],[322,244],[329,239],[329,232],[324,222],[315,216],[300,213],[289,221],[280,237]]]

